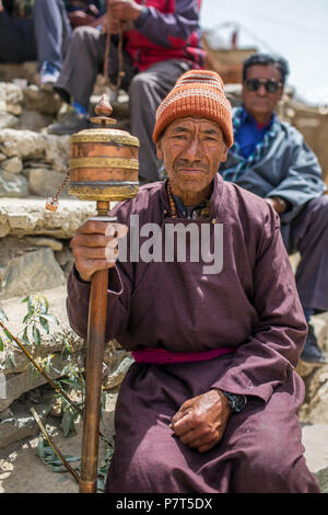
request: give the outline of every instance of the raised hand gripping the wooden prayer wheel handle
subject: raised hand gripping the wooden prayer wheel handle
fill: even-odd
[[[127,232],[127,226],[98,220],[87,220],[79,227],[71,240],[71,248],[83,281],[91,281],[99,270],[114,267],[118,258],[118,239]]]

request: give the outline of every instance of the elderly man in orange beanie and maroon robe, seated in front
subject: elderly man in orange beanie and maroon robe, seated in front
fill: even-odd
[[[106,491],[319,492],[296,414],[306,323],[278,215],[218,174],[233,144],[221,78],[184,73],[153,139],[167,180],[115,206],[116,226],[89,220],[72,239],[71,327],[85,337],[90,278],[108,268],[106,336],[136,359],[117,401]],[[117,259],[126,227],[133,259],[119,258],[125,245]],[[172,252],[175,229],[185,248]]]

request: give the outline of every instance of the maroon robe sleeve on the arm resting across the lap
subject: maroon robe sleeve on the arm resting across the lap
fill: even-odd
[[[307,325],[279,218],[270,207],[254,266],[253,305],[258,320],[212,388],[255,396],[267,402],[296,366]]]

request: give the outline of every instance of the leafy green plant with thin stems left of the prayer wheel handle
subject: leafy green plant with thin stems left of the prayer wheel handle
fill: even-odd
[[[15,367],[14,360],[14,348],[20,347],[27,356],[31,363],[31,367],[34,376],[42,374],[47,381],[51,385],[55,390],[55,398],[61,403],[61,428],[65,436],[69,436],[72,432],[75,432],[75,422],[80,415],[83,415],[83,403],[85,394],[85,378],[84,369],[79,363],[77,352],[72,340],[68,331],[61,327],[60,322],[56,317],[49,312],[49,302],[45,296],[27,296],[22,302],[26,304],[27,312],[23,318],[23,329],[19,334],[22,334],[20,340],[17,336],[7,327],[8,317],[3,309],[0,307],[0,352],[3,354],[0,356],[0,369],[4,367]],[[42,345],[43,334],[50,333],[49,324],[59,325],[62,334],[62,351],[61,356],[66,358],[67,365],[60,371],[54,366],[54,354],[49,354],[45,357],[34,355],[33,350],[36,350]],[[32,352],[26,350],[24,344],[32,348]],[[3,353],[5,351],[5,353]],[[51,379],[49,373],[55,370],[60,374],[60,378],[57,380]],[[74,401],[72,400],[74,398]],[[102,394],[102,422],[103,410],[105,408],[106,396],[105,392]],[[35,420],[39,424],[42,433],[46,436],[40,438],[37,455],[43,459],[45,465],[50,466],[51,470],[56,472],[69,470],[74,479],[77,478],[75,470],[72,470],[69,465],[70,461],[80,460],[79,457],[63,456],[51,443],[51,439],[46,433],[45,427],[37,417],[33,409],[31,409]],[[98,467],[98,491],[104,491],[105,479],[107,469],[114,453],[114,443],[112,437],[109,439],[99,432],[99,436],[107,445],[105,458]],[[56,450],[55,450],[56,449]],[[79,469],[78,469],[79,470]]]

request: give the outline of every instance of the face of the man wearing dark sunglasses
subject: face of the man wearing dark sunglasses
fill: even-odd
[[[251,79],[273,80],[281,83],[281,75],[274,65],[254,65],[248,68],[245,81],[243,83],[243,101],[246,111],[254,117],[268,117],[272,115],[278,102],[281,100],[283,87],[279,85],[276,92],[268,92],[263,83],[257,91],[249,91],[247,81]]]

